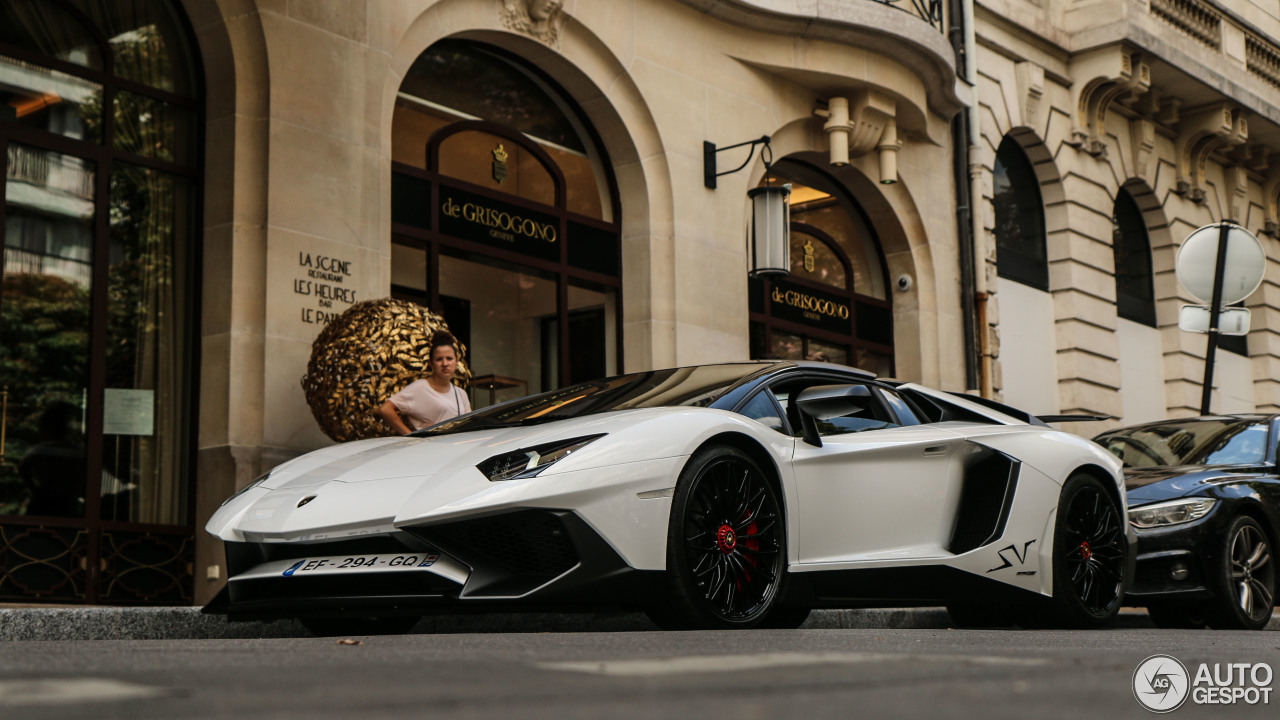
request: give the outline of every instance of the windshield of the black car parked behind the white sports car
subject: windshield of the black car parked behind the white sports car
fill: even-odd
[[[1125,428],[1093,439],[1125,468],[1245,465],[1266,460],[1267,427],[1254,419],[1187,420]]]

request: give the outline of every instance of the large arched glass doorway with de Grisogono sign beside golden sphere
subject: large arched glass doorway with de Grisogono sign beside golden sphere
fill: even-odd
[[[608,158],[552,78],[445,40],[392,119],[392,295],[468,347],[472,406],[621,372],[621,245]]]

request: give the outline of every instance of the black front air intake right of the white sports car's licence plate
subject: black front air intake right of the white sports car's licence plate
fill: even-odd
[[[434,525],[421,534],[468,565],[493,565],[516,577],[554,578],[579,561],[564,523],[547,510]]]

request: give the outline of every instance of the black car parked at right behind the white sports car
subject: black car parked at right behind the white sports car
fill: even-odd
[[[1277,416],[1165,420],[1093,439],[1124,461],[1138,534],[1125,603],[1161,628],[1265,628],[1280,547]]]

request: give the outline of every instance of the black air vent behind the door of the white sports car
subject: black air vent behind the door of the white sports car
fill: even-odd
[[[986,447],[965,460],[960,507],[948,551],[955,555],[969,552],[1005,534],[1019,468],[1012,457]]]

